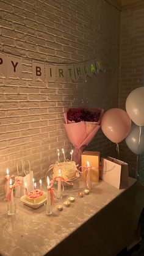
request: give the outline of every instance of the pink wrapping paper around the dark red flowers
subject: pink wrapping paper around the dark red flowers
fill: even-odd
[[[101,114],[99,116],[98,122],[70,122],[67,119],[67,111],[64,115],[64,127],[67,132],[67,136],[71,144],[73,144],[74,152],[73,152],[73,161],[76,164],[81,166],[81,154],[84,151],[84,148],[92,141],[93,137],[95,137],[101,126],[101,117],[103,115],[103,109],[101,110]],[[88,109],[89,111],[96,112],[96,109]]]

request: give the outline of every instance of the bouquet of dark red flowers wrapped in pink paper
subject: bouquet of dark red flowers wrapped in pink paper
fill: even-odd
[[[68,139],[74,146],[73,161],[81,166],[81,154],[101,126],[103,109],[69,108],[63,115]]]

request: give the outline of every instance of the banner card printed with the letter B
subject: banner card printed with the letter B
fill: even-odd
[[[32,60],[32,75],[34,81],[45,81],[45,64]]]

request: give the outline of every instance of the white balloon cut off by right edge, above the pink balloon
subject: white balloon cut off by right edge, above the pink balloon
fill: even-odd
[[[126,112],[136,125],[144,125],[144,86],[129,93],[126,99]]]

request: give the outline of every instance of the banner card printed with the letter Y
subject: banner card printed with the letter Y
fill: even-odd
[[[22,77],[22,60],[20,57],[7,57],[7,78]]]

